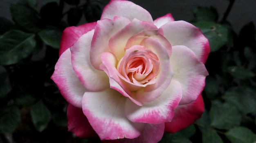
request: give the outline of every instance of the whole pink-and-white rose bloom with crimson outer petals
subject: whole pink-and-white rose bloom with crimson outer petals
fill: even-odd
[[[209,52],[192,24],[171,14],[153,21],[140,6],[111,0],[99,21],[63,31],[52,80],[70,103],[68,129],[77,137],[155,143],[164,131],[186,128],[204,110]]]

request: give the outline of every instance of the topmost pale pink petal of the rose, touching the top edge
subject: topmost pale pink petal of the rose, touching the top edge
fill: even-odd
[[[104,18],[112,20],[115,16],[127,17],[131,21],[137,18],[153,23],[153,19],[146,9],[126,0],[111,0],[103,9],[101,20]]]

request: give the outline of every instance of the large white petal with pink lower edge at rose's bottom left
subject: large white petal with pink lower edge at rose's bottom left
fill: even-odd
[[[129,98],[114,89],[83,95],[83,113],[101,140],[133,139],[144,130],[146,124],[127,119],[124,113],[126,100]]]

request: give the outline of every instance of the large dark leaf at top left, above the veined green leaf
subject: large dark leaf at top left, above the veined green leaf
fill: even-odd
[[[21,4],[11,4],[10,10],[13,20],[19,26],[29,32],[40,31],[40,28],[37,27],[40,17],[36,11],[33,11]]]

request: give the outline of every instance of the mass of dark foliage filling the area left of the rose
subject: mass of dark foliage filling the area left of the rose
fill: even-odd
[[[67,102],[50,76],[62,31],[99,20],[107,2],[17,0],[12,21],[0,17],[0,142],[85,142],[67,132]]]

